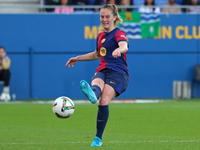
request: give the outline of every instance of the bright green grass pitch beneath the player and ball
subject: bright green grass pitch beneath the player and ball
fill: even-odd
[[[0,150],[199,150],[200,100],[111,103],[102,147],[90,147],[97,104],[57,118],[52,104],[0,103]]]

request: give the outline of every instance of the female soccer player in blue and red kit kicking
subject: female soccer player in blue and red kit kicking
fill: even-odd
[[[119,22],[122,22],[117,7],[113,4],[104,5],[100,9],[100,21],[104,32],[97,36],[96,50],[72,57],[65,65],[65,67],[73,67],[78,61],[100,58],[100,64],[92,78],[91,87],[85,80],[80,82],[82,92],[91,103],[95,104],[99,99],[97,133],[91,146],[102,146],[102,134],[109,115],[108,105],[113,98],[126,90],[129,80],[126,63],[128,42],[126,34],[116,27]]]

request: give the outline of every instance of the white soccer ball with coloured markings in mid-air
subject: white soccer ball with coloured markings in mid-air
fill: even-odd
[[[75,105],[69,97],[61,96],[54,101],[52,109],[58,118],[69,118],[74,113]]]

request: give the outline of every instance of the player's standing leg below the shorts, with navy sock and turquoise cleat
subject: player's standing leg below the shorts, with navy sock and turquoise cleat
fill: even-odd
[[[97,115],[97,133],[91,146],[102,146],[102,135],[109,116],[108,105],[110,101],[116,97],[116,95],[116,91],[110,85],[104,85],[104,89],[99,99],[99,109]]]

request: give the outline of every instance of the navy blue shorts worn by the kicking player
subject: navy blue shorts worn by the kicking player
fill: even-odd
[[[128,87],[128,77],[111,69],[106,68],[97,72],[93,76],[92,80],[96,78],[100,78],[105,82],[105,84],[110,85],[117,92],[117,96],[123,93]]]

